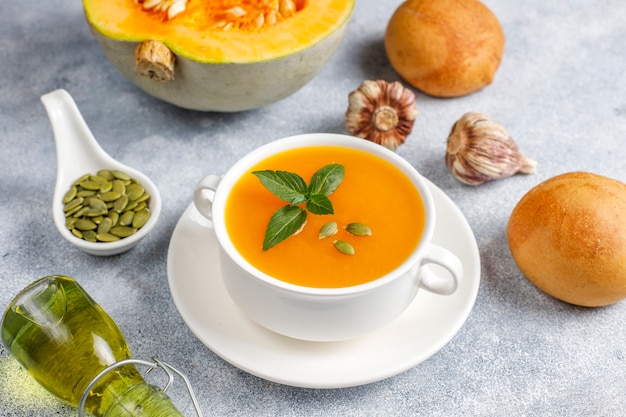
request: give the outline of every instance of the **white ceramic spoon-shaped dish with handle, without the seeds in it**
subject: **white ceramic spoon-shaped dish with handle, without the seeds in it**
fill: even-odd
[[[109,156],[98,144],[85,123],[72,96],[65,90],[55,90],[41,96],[54,132],[57,153],[57,178],[52,199],[52,217],[65,239],[92,255],[108,256],[134,247],[154,228],[161,214],[161,196],[154,183],[143,173]],[[65,226],[63,196],[82,175],[95,174],[100,169],[119,170],[136,179],[150,194],[150,219],[137,232],[115,242],[88,242],[77,238]]]

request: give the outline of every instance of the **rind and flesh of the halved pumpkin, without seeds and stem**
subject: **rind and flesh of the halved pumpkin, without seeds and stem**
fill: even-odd
[[[178,16],[159,25],[149,13],[137,12],[133,0],[83,0],[92,33],[126,78],[174,105],[222,112],[281,100],[330,60],[345,36],[354,1],[306,4],[310,10],[257,32],[210,30],[198,37],[176,23]],[[324,5],[327,9],[320,9]],[[135,49],[145,40],[160,41],[176,55],[171,81],[154,82],[137,72]]]

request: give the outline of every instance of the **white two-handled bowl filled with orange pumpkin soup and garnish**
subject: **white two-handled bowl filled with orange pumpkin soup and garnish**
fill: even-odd
[[[305,134],[270,142],[194,192],[212,220],[220,270],[254,321],[304,340],[344,340],[400,315],[422,288],[453,293],[458,258],[432,244],[424,178],[363,139]],[[433,279],[426,264],[443,266]]]

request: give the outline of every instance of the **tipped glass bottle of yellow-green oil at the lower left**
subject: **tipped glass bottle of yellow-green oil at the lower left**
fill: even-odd
[[[26,287],[2,319],[2,343],[48,391],[78,407],[90,383],[130,359],[115,322],[72,278],[49,276]],[[96,417],[178,417],[182,414],[133,364],[93,384],[84,411]]]

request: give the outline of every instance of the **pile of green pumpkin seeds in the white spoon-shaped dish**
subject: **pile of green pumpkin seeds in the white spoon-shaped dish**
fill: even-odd
[[[78,178],[63,197],[65,227],[89,242],[114,242],[137,232],[150,218],[150,194],[135,179],[102,169]]]

